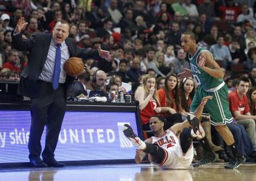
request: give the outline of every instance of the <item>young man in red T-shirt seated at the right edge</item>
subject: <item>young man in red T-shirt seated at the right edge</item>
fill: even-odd
[[[228,94],[229,110],[237,119],[237,123],[245,127],[254,149],[256,150],[256,116],[250,115],[250,107],[246,93],[249,89],[249,79],[245,76],[237,79],[236,90]]]

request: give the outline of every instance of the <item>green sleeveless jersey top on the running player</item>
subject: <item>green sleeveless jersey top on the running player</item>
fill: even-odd
[[[193,77],[198,86],[200,86],[203,90],[208,90],[219,86],[223,82],[223,79],[214,78],[198,66],[197,58],[203,51],[208,50],[204,49],[203,47],[198,47],[197,52],[195,52],[193,57],[189,55],[189,62]]]

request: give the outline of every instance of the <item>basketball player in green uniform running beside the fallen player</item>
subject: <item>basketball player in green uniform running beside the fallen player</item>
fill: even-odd
[[[181,47],[189,54],[191,70],[184,68],[184,71],[179,73],[178,76],[181,79],[193,76],[198,84],[190,111],[195,111],[195,108],[198,107],[203,97],[207,95],[213,97],[205,105],[203,113],[210,115],[211,124],[215,126],[216,131],[219,132],[226,144],[233,151],[234,158],[224,167],[227,169],[237,168],[242,164],[242,155],[239,153],[233,134],[229,131],[228,126],[226,126],[226,123],[233,121],[233,117],[229,111],[228,88],[223,81],[224,71],[215,62],[211,52],[197,46],[194,33],[182,33]],[[203,143],[208,144],[207,139]],[[211,156],[210,150],[204,149],[203,159],[198,161],[195,166],[211,163],[213,161]]]

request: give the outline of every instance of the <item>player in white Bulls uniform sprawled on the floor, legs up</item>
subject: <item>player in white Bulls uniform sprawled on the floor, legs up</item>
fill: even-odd
[[[187,169],[194,157],[194,147],[192,139],[194,137],[204,137],[204,131],[199,126],[199,118],[203,108],[211,96],[204,97],[194,115],[189,114],[187,120],[174,124],[164,131],[164,120],[159,116],[151,116],[150,129],[155,136],[144,142],[134,134],[128,124],[124,124],[124,135],[134,143],[139,149],[136,150],[136,163],[142,162],[143,158],[149,154],[151,163],[168,169]],[[192,127],[188,128],[188,127]]]

